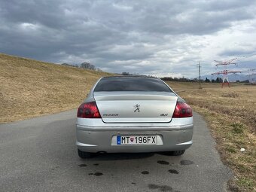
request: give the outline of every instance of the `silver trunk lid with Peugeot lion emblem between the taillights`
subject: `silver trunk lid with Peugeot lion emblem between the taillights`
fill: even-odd
[[[105,123],[167,123],[178,96],[167,92],[94,92]]]

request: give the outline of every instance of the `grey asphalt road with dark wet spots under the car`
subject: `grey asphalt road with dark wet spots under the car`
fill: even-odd
[[[181,157],[102,154],[81,160],[75,113],[0,124],[0,191],[226,191],[232,176],[194,113],[194,145]]]

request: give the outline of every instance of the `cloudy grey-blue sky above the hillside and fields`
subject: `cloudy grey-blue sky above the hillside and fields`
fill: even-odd
[[[256,69],[256,1],[1,0],[0,53],[195,78]]]

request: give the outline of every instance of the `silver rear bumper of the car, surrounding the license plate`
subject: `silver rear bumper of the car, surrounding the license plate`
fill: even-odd
[[[182,126],[76,126],[76,145],[91,153],[180,151],[192,145],[193,124]],[[157,135],[158,145],[116,145],[113,136]]]

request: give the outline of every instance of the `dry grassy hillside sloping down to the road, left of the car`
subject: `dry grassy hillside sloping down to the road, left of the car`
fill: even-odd
[[[107,75],[0,53],[0,123],[77,108]]]

